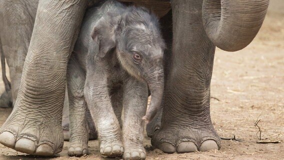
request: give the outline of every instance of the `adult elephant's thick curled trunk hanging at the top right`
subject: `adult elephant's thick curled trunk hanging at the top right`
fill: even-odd
[[[202,20],[207,36],[219,48],[236,51],[258,32],[269,0],[203,0]]]

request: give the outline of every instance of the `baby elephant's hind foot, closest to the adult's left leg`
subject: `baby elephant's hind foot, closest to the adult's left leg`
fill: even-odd
[[[68,147],[69,156],[82,156],[88,154],[87,144],[71,143]]]

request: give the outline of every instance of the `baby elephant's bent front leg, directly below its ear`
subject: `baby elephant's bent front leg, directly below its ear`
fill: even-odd
[[[84,95],[100,140],[99,151],[109,157],[120,156],[123,153],[120,126],[112,108],[107,75],[97,73],[105,70],[87,72]]]

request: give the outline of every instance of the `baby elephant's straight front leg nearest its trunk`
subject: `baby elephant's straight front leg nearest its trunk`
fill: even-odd
[[[142,81],[130,79],[123,88],[123,146],[124,159],[145,159],[146,152],[143,147],[143,128],[147,108],[147,84]]]

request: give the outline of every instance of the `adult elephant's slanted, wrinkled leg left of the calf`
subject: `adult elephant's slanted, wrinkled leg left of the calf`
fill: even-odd
[[[15,106],[0,129],[2,144],[36,155],[61,151],[66,66],[86,4],[39,1]]]

